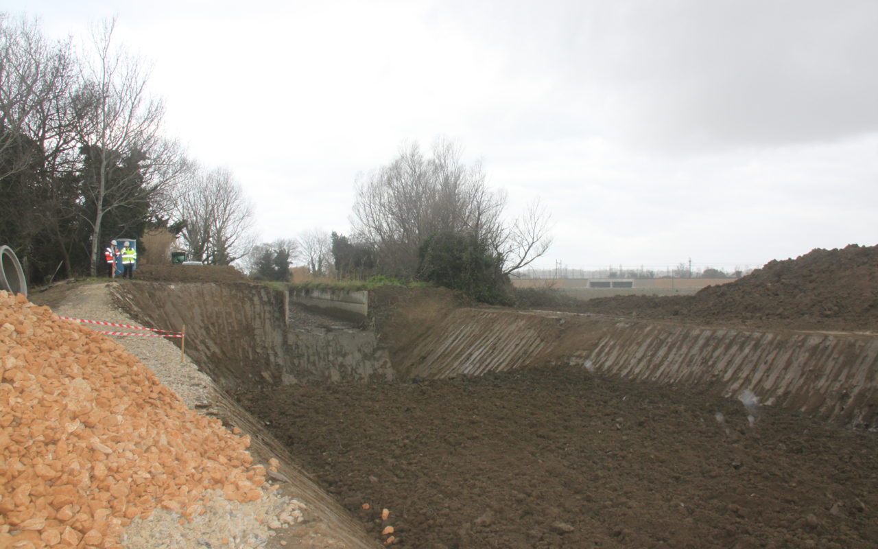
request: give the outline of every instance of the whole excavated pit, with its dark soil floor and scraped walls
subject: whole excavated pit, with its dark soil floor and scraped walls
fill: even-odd
[[[187,354],[378,540],[392,524],[436,549],[878,544],[878,337],[400,292],[117,297],[185,324]]]

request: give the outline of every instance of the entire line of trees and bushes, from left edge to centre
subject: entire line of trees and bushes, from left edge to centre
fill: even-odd
[[[543,207],[509,217],[506,194],[443,139],[426,153],[404,146],[356,180],[348,235],[256,243],[241,184],[162,134],[148,66],[114,28],[93,26],[76,51],[36,20],[0,14],[0,243],[32,281],[96,276],[106,243],[169,231],[189,259],[253,278],[288,279],[298,261],[315,276],[427,280],[499,301],[508,276],[549,248]]]

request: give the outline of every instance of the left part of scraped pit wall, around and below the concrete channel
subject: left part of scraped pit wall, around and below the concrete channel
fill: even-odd
[[[116,300],[156,328],[186,327],[186,354],[224,388],[304,379],[392,379],[374,333],[291,314],[287,293],[247,283],[138,282]]]

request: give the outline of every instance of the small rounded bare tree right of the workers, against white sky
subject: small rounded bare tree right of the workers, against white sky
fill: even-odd
[[[177,220],[190,256],[206,264],[232,264],[253,248],[253,208],[231,171],[192,170],[179,185]]]

